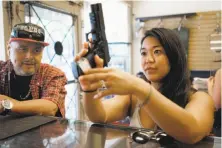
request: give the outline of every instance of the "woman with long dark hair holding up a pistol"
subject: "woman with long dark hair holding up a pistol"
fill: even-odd
[[[87,44],[75,58],[87,53]],[[109,123],[131,116],[131,126],[159,127],[175,139],[196,143],[207,136],[213,124],[213,101],[204,92],[192,92],[185,50],[179,37],[169,29],[154,28],[141,41],[141,64],[150,83],[129,73],[97,68],[79,77],[85,92],[83,104],[92,122]],[[98,90],[102,86],[107,89]],[[116,94],[101,101],[104,96]]]

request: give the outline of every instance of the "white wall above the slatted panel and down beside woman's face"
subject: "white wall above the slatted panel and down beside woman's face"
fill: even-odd
[[[135,18],[171,15],[180,13],[206,12],[221,10],[221,1],[133,1],[133,49],[132,71],[136,74],[141,71],[140,64],[140,40],[135,37]]]

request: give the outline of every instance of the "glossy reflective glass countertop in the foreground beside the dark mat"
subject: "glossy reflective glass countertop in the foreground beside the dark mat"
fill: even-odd
[[[7,118],[7,117],[6,117]],[[5,117],[0,116],[4,121]],[[15,117],[16,118],[16,117]],[[13,120],[16,120],[13,118]],[[24,117],[26,118],[26,117]],[[46,117],[44,117],[46,118]],[[48,117],[53,118],[53,117]],[[21,121],[21,120],[20,120]],[[33,123],[35,121],[32,121]],[[4,124],[5,122],[1,122]],[[17,121],[18,126],[20,122]],[[5,123],[6,124],[6,123]],[[3,125],[5,126],[5,125]],[[1,126],[2,127],[2,126]],[[7,128],[1,129],[1,132],[7,132]],[[137,133],[148,133],[148,139],[143,144],[138,142]],[[156,133],[156,134],[155,134]],[[173,148],[220,148],[220,137],[206,137],[202,141],[188,145],[175,139],[162,140],[156,136],[164,134],[162,131],[153,131],[136,127],[118,126],[112,124],[93,124],[80,120],[66,120],[56,118],[55,121],[42,124],[24,132],[17,133],[6,139],[0,139],[1,148],[134,148],[134,147],[173,147]],[[136,137],[135,137],[136,136]],[[153,139],[153,138],[157,139]],[[137,140],[135,140],[135,138]]]

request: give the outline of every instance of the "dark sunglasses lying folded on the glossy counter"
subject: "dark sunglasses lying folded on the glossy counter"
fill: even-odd
[[[161,131],[148,131],[148,130],[139,130],[130,134],[134,142],[139,144],[145,144],[149,141],[155,141],[161,146],[166,146],[173,144],[174,139],[168,136],[166,133]]]

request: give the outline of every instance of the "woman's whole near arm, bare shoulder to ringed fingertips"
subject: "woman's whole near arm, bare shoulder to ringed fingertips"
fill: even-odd
[[[212,98],[204,92],[195,93],[184,109],[156,89],[149,91],[149,83],[116,69],[91,69],[81,79],[92,82],[88,85],[92,89],[98,87],[100,80],[105,81],[108,89],[97,93],[94,98],[131,94],[137,96],[138,101],[144,102],[149,96],[149,101],[144,104],[147,116],[179,141],[195,143],[211,131],[214,105]]]

